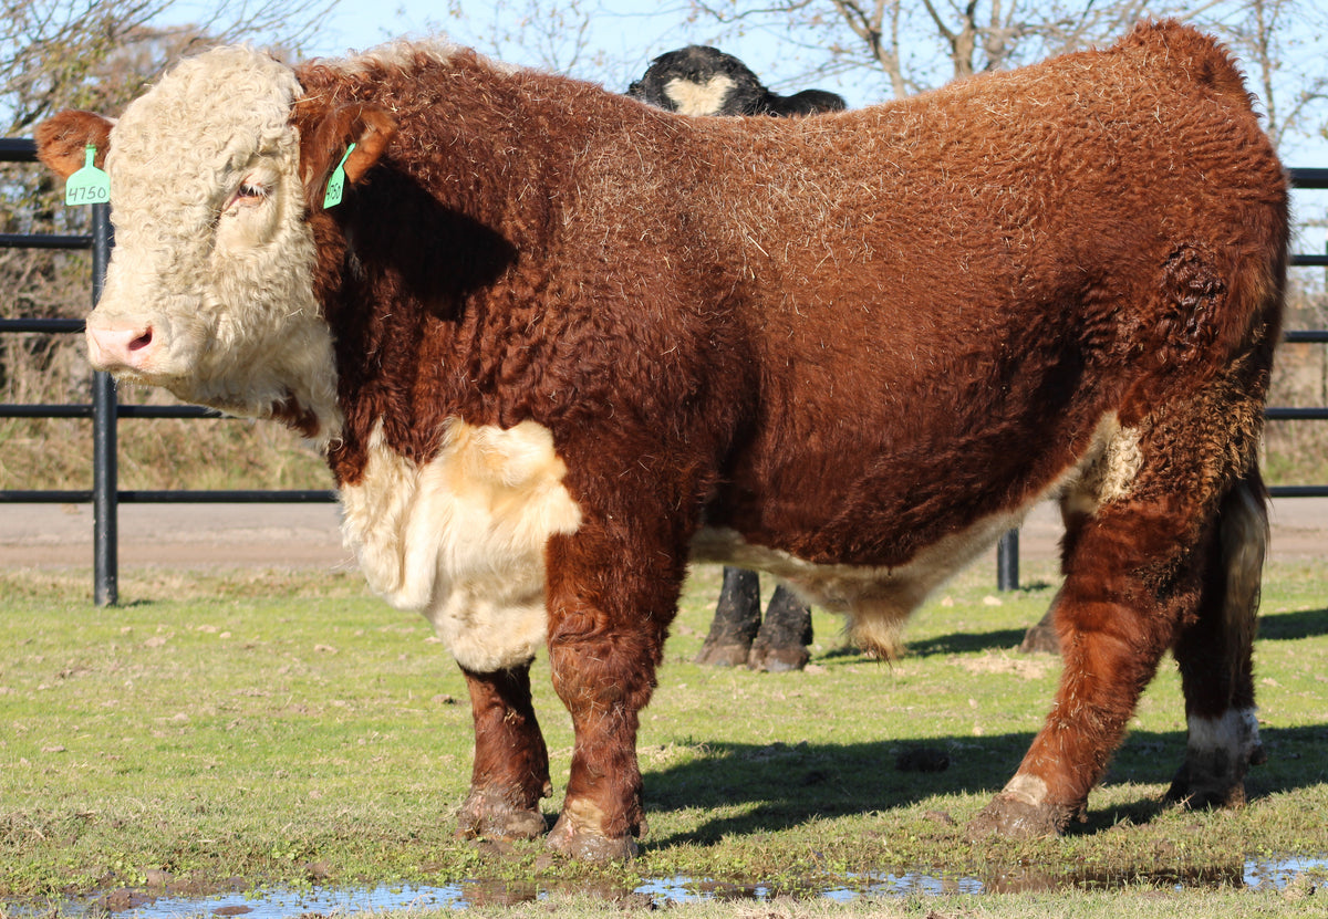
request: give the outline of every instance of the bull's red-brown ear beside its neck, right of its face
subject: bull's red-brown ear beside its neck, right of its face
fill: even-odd
[[[397,134],[397,122],[386,109],[359,102],[321,113],[297,110],[296,122],[300,127],[300,178],[311,207],[323,201],[328,178],[352,143],[355,150],[341,166],[348,185],[364,178]]]

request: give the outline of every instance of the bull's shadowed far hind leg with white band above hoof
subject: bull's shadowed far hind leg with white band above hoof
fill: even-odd
[[[1175,645],[1190,730],[1167,797],[1201,807],[1244,803],[1246,772],[1263,761],[1251,661],[1268,541],[1258,473],[1223,499],[1218,533],[1199,616]]]

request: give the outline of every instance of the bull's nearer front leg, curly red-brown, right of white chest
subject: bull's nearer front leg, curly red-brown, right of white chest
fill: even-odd
[[[606,554],[550,551],[548,656],[554,689],[572,717],[575,745],[556,851],[588,862],[636,854],[645,834],[636,761],[639,713],[655,688],[683,563],[633,564]],[[663,562],[661,564],[659,562]]]

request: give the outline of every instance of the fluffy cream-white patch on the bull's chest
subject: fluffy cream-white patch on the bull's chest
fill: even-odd
[[[418,465],[369,438],[359,485],[341,490],[345,543],[377,594],[433,623],[462,667],[490,673],[543,645],[544,544],[580,526],[552,434],[448,422]]]

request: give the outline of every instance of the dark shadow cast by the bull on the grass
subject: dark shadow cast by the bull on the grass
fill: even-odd
[[[1246,788],[1251,801],[1328,781],[1323,769],[1308,774],[1303,765],[1320,760],[1328,725],[1268,728],[1262,737],[1268,762],[1250,772]],[[644,770],[645,810],[651,814],[704,809],[728,815],[714,817],[689,833],[653,837],[651,842],[714,845],[726,835],[786,830],[823,817],[888,811],[932,795],[985,798],[1015,773],[1032,740],[1032,733],[1009,733],[842,745],[706,741],[704,756],[691,762]],[[919,752],[923,756],[908,756]],[[948,757],[943,772],[908,768],[910,762],[934,762],[932,757],[940,753]],[[1165,788],[1183,757],[1183,733],[1133,732],[1113,758],[1104,784]],[[1171,807],[1161,795],[1151,794],[1108,809],[1096,803],[1096,798],[1089,798],[1088,822],[1072,826],[1070,831],[1096,833],[1122,821],[1142,823]],[[741,813],[733,815],[734,807]],[[964,815],[952,818],[961,823]]]

